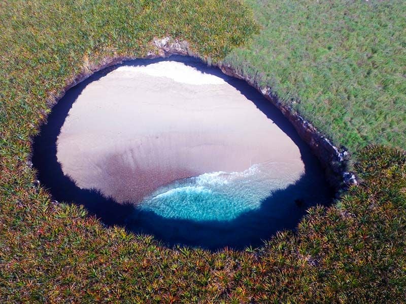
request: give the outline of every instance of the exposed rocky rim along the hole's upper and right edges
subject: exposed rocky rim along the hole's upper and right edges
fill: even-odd
[[[152,41],[153,50],[148,52],[146,58],[163,58],[171,55],[183,55],[201,58],[198,54],[189,49],[189,45],[185,41],[173,40],[171,37],[163,37],[162,39],[154,39]],[[126,60],[137,59],[134,57],[107,57],[103,62],[95,65],[85,62],[83,71],[70,83],[64,91],[60,92],[51,100],[54,104],[59,100],[67,90],[74,87],[76,84],[88,78],[91,74],[106,67],[120,64]],[[285,117],[293,124],[299,136],[311,147],[313,153],[321,162],[326,170],[326,176],[329,183],[335,189],[345,188],[351,184],[357,184],[356,176],[352,172],[347,171],[347,163],[349,154],[345,148],[337,148],[330,140],[316,130],[309,122],[304,120],[290,106],[282,104],[278,97],[272,92],[269,87],[261,88],[251,79],[240,75],[231,66],[225,65],[222,62],[217,66],[223,73],[246,81],[248,84],[256,88],[262,95],[271,101],[278,109],[282,111]]]

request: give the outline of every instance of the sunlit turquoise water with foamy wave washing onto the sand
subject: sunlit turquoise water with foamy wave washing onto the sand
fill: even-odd
[[[243,172],[205,173],[157,189],[138,208],[171,219],[229,221],[259,209],[265,198],[300,178],[286,172],[294,172],[292,163],[267,162]]]

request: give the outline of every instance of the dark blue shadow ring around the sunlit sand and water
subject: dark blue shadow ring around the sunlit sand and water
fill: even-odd
[[[32,163],[38,170],[38,178],[42,185],[49,189],[56,200],[84,205],[90,214],[97,216],[107,225],[122,225],[135,233],[152,234],[168,246],[182,244],[211,250],[224,246],[236,249],[243,249],[250,245],[260,246],[262,240],[269,239],[277,231],[294,229],[310,206],[327,205],[331,202],[333,193],[309,146],[300,139],[283,114],[257,90],[242,80],[224,75],[218,68],[208,67],[190,57],[140,59],[126,62],[125,65],[146,65],[162,60],[180,61],[203,72],[215,74],[238,89],[299,147],[305,166],[304,175],[296,183],[265,199],[259,209],[248,211],[231,221],[196,222],[168,219],[151,211],[136,209],[132,204],[118,204],[112,199],[101,196],[97,191],[80,189],[69,177],[63,175],[61,166],[57,162],[57,137],[72,104],[82,90],[92,81],[98,80],[120,66],[117,65],[93,74],[67,91],[53,107],[47,124],[41,127],[40,134],[34,139]]]

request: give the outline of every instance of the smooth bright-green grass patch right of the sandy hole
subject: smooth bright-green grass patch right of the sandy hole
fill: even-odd
[[[353,153],[406,147],[406,2],[247,2],[262,29],[227,63]]]

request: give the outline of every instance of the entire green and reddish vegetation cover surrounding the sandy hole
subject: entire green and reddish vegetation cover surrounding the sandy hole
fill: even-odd
[[[0,3],[2,303],[404,300],[406,155],[356,150],[368,141],[404,147],[404,4],[249,4],[257,36],[251,11],[235,1]],[[234,49],[227,62],[300,101],[306,118],[357,151],[362,184],[309,210],[297,234],[241,252],[165,248],[52,202],[29,154],[53,96],[87,62],[143,56],[164,35],[214,60]]]

